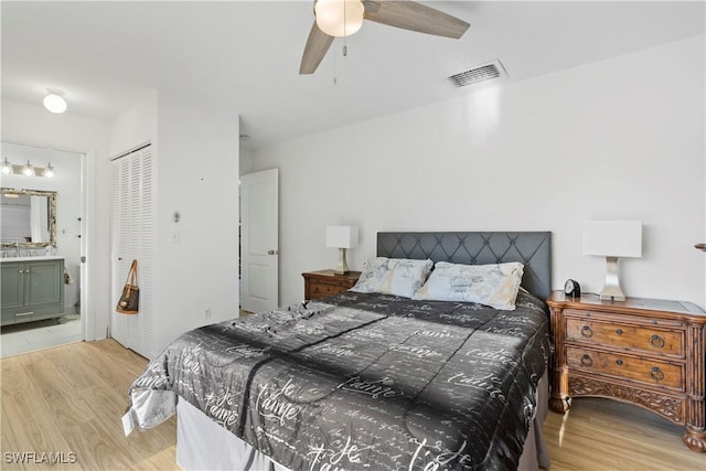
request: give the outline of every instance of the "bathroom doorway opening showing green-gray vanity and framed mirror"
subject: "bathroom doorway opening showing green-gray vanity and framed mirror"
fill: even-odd
[[[54,194],[55,207],[53,212],[43,212],[46,203],[41,201],[28,202],[29,197],[18,197],[12,191],[0,195],[3,216],[17,215],[13,222],[2,217],[0,231],[3,266],[0,354],[4,357],[82,341],[86,338],[85,302],[82,302],[87,289],[82,264],[86,247],[86,156],[2,142],[2,160],[3,190],[30,190],[26,193],[32,197]],[[24,278],[18,278],[15,272],[22,272]],[[33,299],[30,287],[34,293],[40,289],[44,295]],[[46,298],[52,295],[54,299]],[[6,309],[12,296],[17,302]],[[22,302],[26,306],[18,306]]]

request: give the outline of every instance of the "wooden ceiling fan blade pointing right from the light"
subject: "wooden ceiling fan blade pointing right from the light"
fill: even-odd
[[[403,30],[459,39],[470,23],[416,1],[364,0],[365,19]]]

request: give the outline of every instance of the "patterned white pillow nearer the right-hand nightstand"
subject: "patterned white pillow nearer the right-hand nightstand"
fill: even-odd
[[[495,309],[515,310],[524,265],[458,265],[437,261],[427,282],[414,299],[479,302]]]

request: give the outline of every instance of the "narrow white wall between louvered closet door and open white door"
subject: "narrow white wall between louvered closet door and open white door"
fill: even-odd
[[[156,352],[188,330],[238,315],[238,136],[237,114],[160,95]]]

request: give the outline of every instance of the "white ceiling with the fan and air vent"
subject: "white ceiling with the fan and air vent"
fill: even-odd
[[[500,60],[522,81],[704,34],[704,1],[425,1],[461,40],[365,22],[314,75],[299,61],[312,1],[1,2],[2,96],[109,120],[150,89],[235,113],[248,147],[472,92],[447,77]],[[335,56],[335,61],[334,61]],[[333,76],[338,83],[333,84]]]

